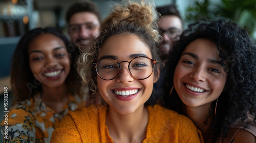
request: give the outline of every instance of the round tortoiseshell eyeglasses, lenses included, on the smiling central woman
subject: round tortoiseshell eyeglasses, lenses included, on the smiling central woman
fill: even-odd
[[[92,64],[95,66],[98,76],[103,80],[113,80],[121,70],[120,63],[129,63],[128,68],[132,77],[138,80],[144,80],[150,77],[154,71],[157,60],[148,57],[138,56],[130,62],[118,62],[114,58],[103,58]]]

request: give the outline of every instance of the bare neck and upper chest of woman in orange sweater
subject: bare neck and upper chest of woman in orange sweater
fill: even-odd
[[[132,114],[120,114],[111,107],[106,113],[106,126],[114,142],[142,142],[147,121],[148,111],[144,106]]]

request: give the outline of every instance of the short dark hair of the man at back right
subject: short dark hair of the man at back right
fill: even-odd
[[[176,5],[174,5],[174,4],[157,7],[157,11],[162,16],[164,16],[164,15],[176,15],[181,19],[180,12],[178,11]]]

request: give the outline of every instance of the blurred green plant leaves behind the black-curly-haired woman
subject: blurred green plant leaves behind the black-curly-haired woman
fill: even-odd
[[[186,13],[186,22],[201,18],[226,18],[238,23],[251,36],[256,32],[256,0],[220,0],[219,3],[209,0],[196,1],[195,5],[187,8]]]

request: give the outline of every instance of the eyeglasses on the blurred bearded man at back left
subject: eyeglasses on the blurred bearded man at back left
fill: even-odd
[[[79,33],[82,28],[90,30],[90,31],[94,31],[98,27],[99,27],[99,23],[86,22],[86,23],[81,23],[81,24],[69,25],[69,30],[72,33]]]

